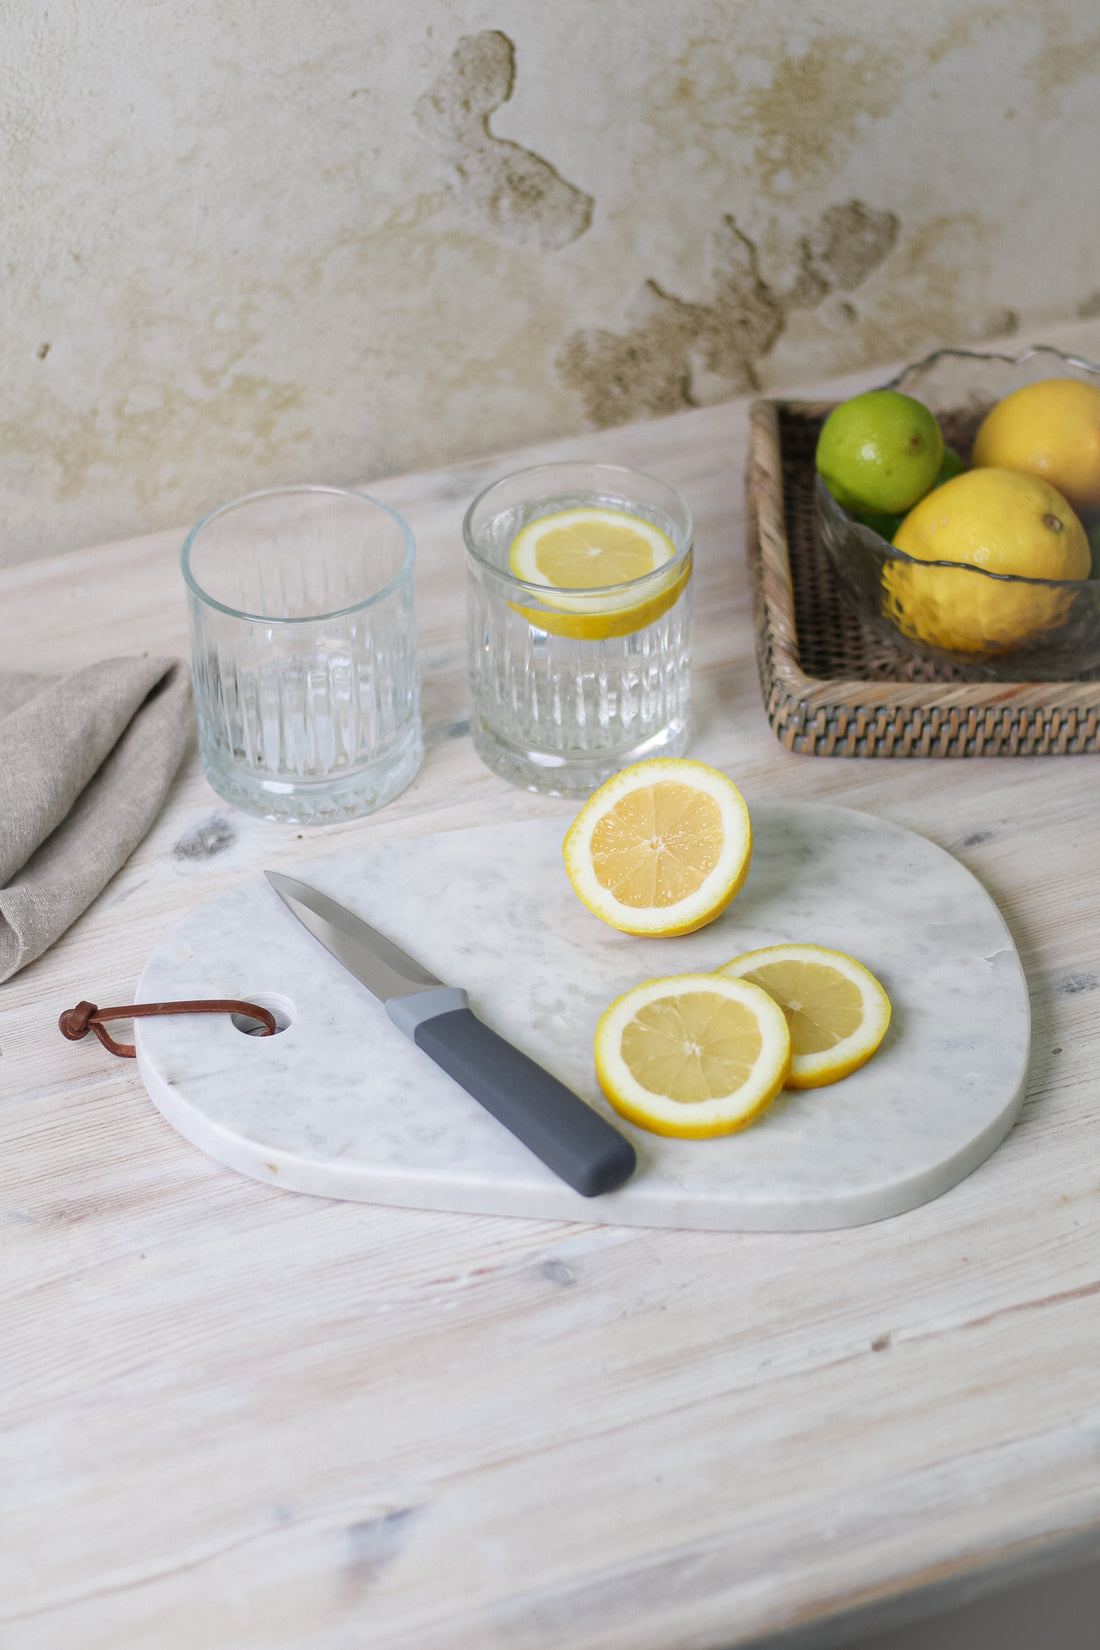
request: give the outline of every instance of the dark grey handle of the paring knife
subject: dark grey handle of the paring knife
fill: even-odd
[[[633,1173],[627,1137],[472,1008],[421,1020],[412,1041],[584,1198],[613,1191]]]

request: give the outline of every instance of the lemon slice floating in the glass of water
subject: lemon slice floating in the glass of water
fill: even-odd
[[[529,521],[511,541],[508,566],[538,586],[551,612],[518,607],[554,635],[604,640],[643,630],[679,599],[691,559],[676,564],[676,546],[653,521],[627,510],[585,505]],[[642,589],[622,589],[668,568]]]

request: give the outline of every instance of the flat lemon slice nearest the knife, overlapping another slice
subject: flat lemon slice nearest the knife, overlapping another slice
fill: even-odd
[[[767,992],[722,974],[645,980],[595,1028],[595,1074],[630,1122],[703,1140],[759,1117],[790,1066],[790,1031]]]

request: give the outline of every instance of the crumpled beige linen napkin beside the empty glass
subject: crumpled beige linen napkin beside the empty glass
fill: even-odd
[[[0,672],[0,980],[53,945],[124,865],[191,728],[178,658]]]

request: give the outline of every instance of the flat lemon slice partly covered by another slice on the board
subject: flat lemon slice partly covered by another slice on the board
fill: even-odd
[[[717,972],[762,987],[787,1015],[788,1089],[820,1089],[858,1071],[891,1023],[891,1000],[876,977],[825,945],[764,945]]]

